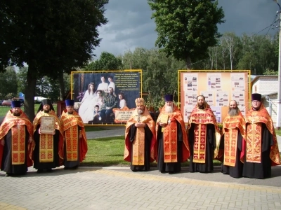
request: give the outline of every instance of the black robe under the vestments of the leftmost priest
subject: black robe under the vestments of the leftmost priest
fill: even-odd
[[[25,126],[25,163],[20,165],[12,165],[12,130],[9,130],[4,137],[5,145],[3,151],[3,158],[1,162],[1,171],[7,174],[21,175],[27,172],[27,159],[28,155],[28,139],[30,135]]]

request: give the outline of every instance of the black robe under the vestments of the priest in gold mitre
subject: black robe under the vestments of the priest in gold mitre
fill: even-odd
[[[149,129],[147,125],[145,125],[145,165],[133,165],[132,160],[133,160],[133,140],[135,140],[135,135],[136,135],[136,130],[138,127],[135,126],[135,124],[132,124],[129,130],[129,137],[130,137],[130,144],[131,145],[131,165],[130,169],[133,172],[136,171],[149,171],[150,170],[150,144],[151,144],[151,139],[152,139],[152,132]]]

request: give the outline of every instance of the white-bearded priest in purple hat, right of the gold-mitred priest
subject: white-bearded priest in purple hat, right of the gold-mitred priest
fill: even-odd
[[[181,111],[174,106],[172,94],[165,95],[164,100],[156,122],[157,168],[173,174],[181,172],[181,162],[188,160],[190,153]]]

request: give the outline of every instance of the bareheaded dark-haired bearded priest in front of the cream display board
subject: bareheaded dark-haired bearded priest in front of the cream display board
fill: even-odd
[[[213,160],[218,155],[220,139],[213,111],[203,95],[197,96],[197,105],[188,120],[190,172],[213,172]]]

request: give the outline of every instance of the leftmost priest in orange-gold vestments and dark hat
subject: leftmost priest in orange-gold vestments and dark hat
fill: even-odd
[[[32,123],[20,109],[20,101],[11,105],[0,126],[0,168],[6,176],[26,174],[34,149]]]

